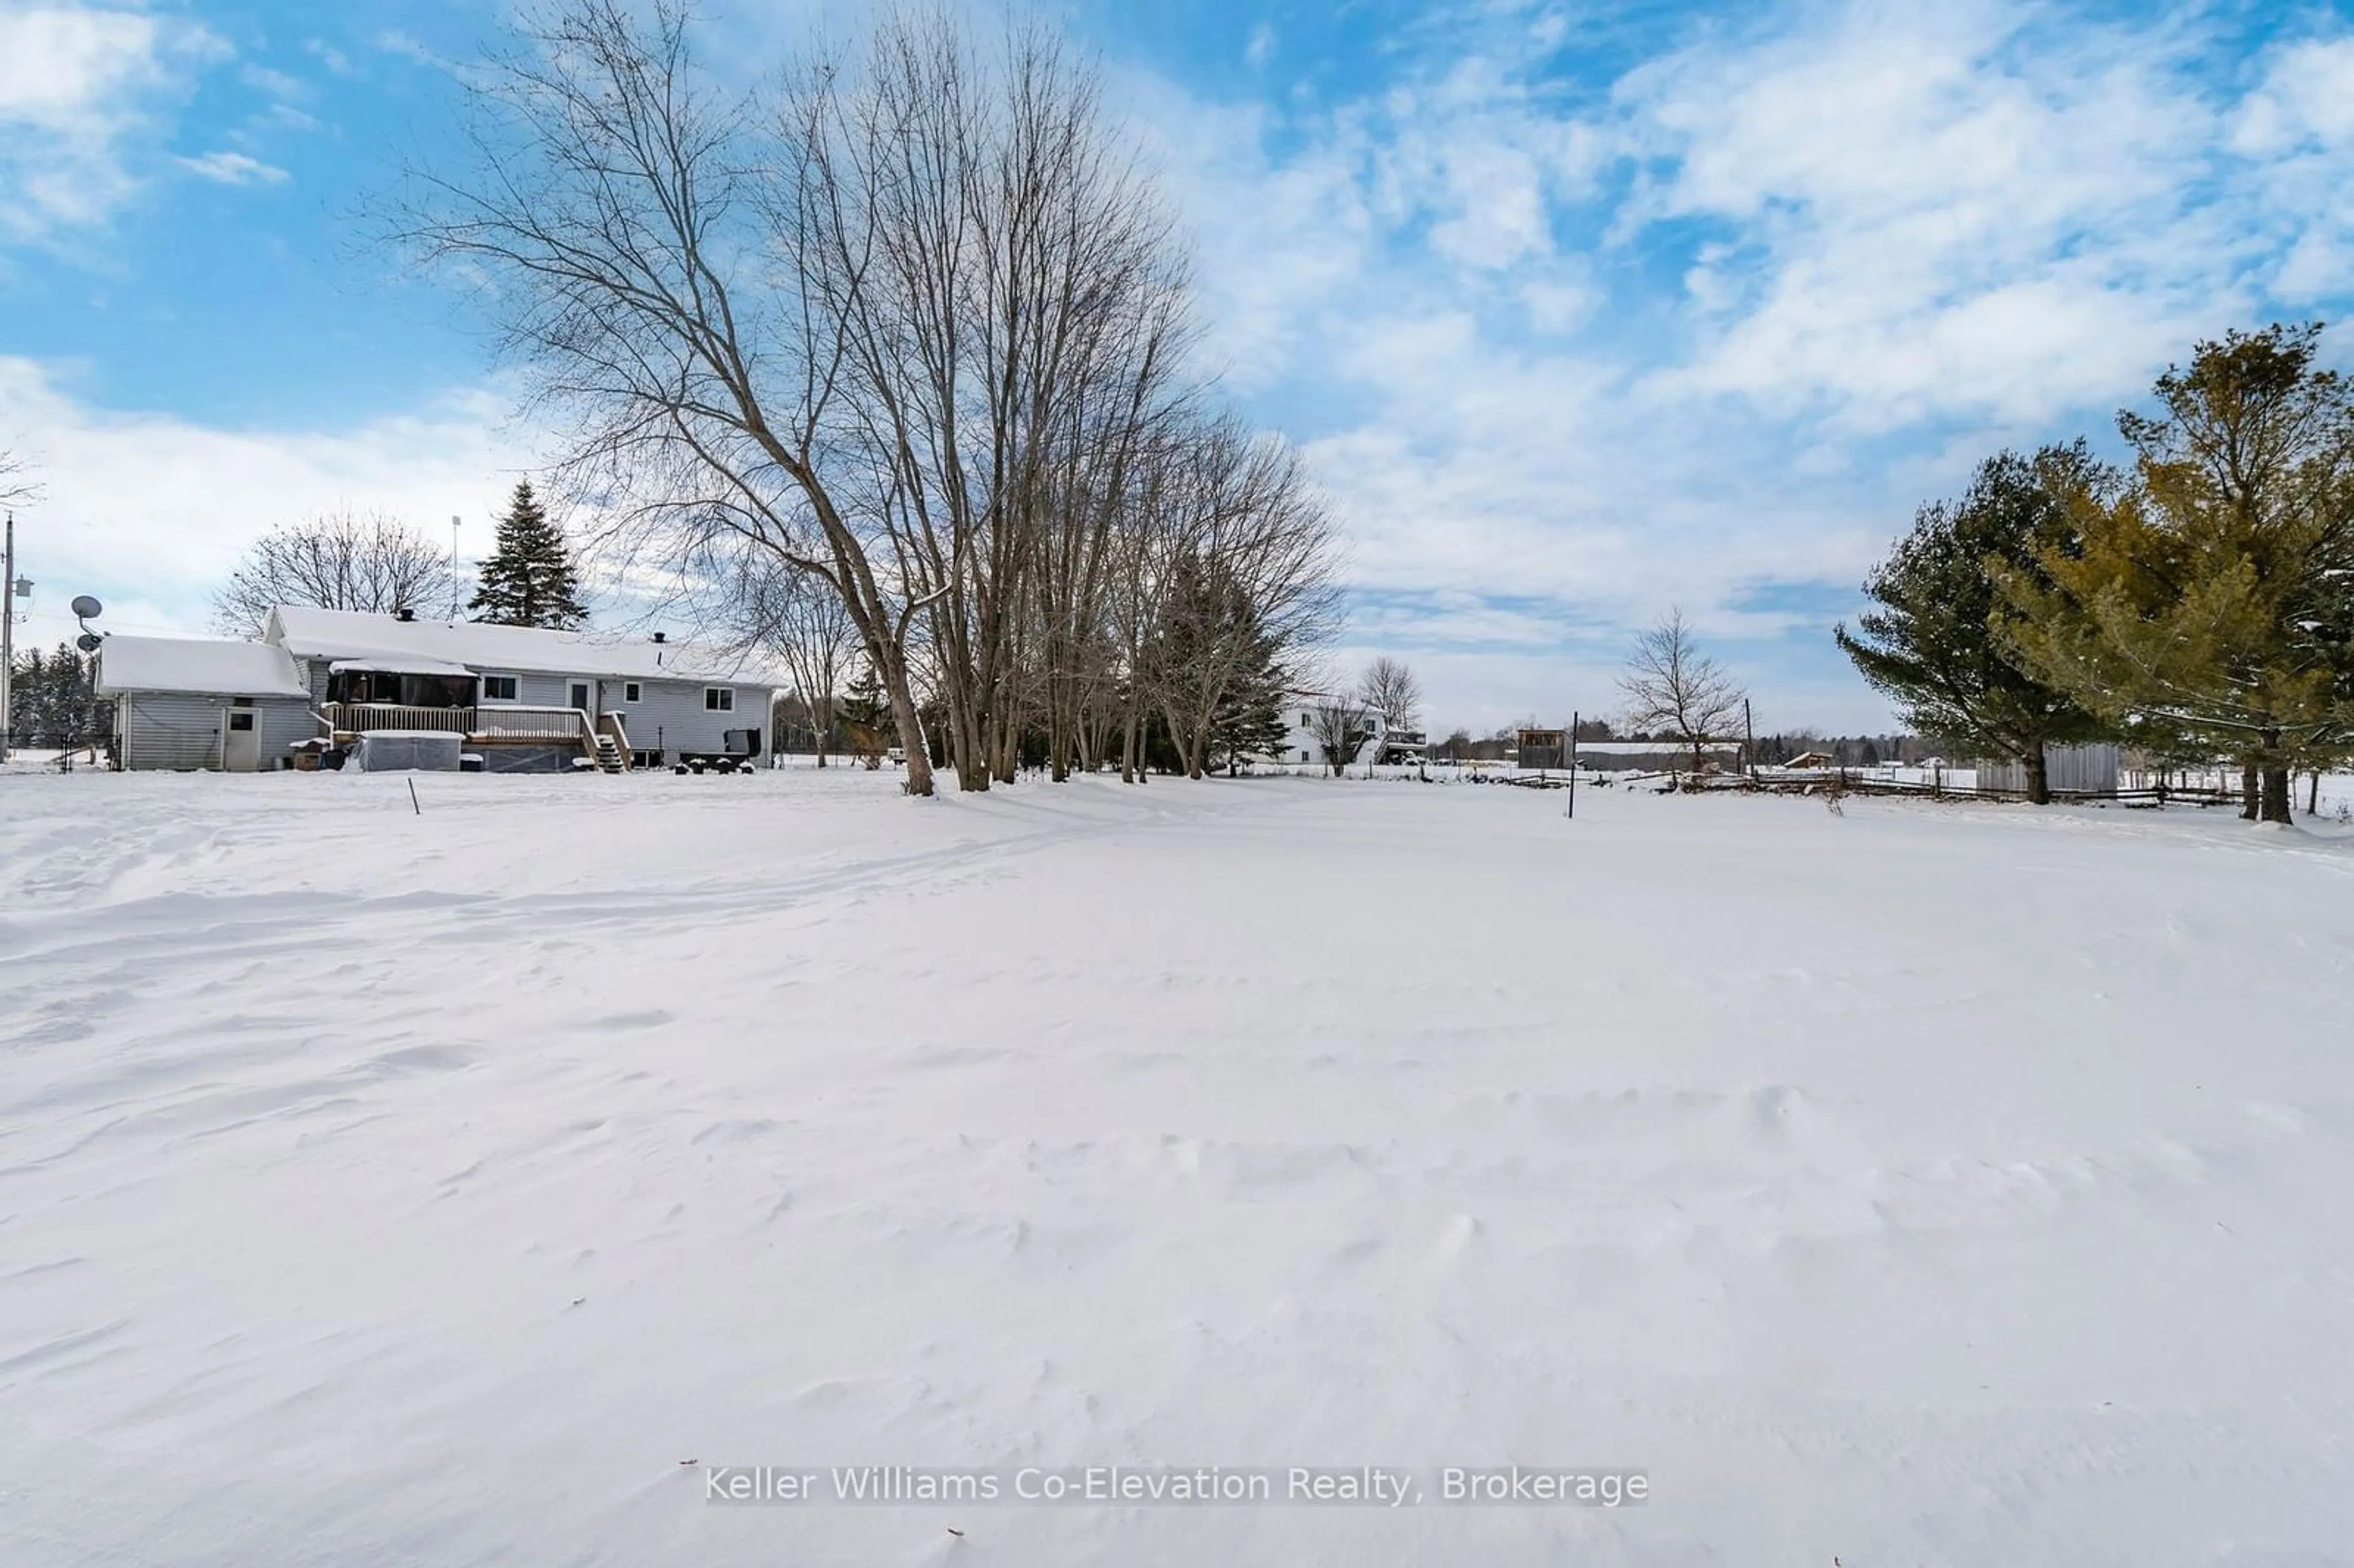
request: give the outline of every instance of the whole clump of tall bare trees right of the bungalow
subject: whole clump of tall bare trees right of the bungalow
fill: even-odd
[[[1170,657],[1184,563],[1252,626],[1229,650],[1330,607],[1297,459],[1198,412],[1184,257],[1097,73],[1000,38],[887,12],[734,92],[676,0],[548,0],[480,78],[473,167],[393,224],[483,280],[600,553],[840,600],[911,793],[925,716],[963,789],[1116,730],[1135,777],[1146,713],[1198,772],[1236,662]]]

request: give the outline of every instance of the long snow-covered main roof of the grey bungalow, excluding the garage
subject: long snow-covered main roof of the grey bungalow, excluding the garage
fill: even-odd
[[[468,671],[532,671],[541,676],[633,676],[640,680],[730,680],[767,685],[772,671],[685,643],[603,631],[548,631],[487,622],[403,622],[398,614],[278,605],[264,633],[297,659],[386,664],[410,673],[417,659]]]

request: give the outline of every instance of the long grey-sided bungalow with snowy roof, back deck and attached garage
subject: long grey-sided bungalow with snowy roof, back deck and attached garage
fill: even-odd
[[[137,645],[127,662],[118,643]],[[492,772],[737,768],[763,756],[772,697],[742,662],[659,631],[619,638],[301,605],[273,610],[259,643],[111,636],[99,669],[99,690],[118,702],[120,768],[285,768],[306,742],[365,758],[367,735],[419,732],[464,737],[461,751]],[[200,749],[198,699],[254,709],[261,739],[238,739],[247,720],[228,716]]]

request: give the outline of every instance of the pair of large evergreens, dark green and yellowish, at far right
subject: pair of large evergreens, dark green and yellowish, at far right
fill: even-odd
[[[2236,768],[2241,815],[2354,758],[2354,388],[2321,323],[2201,341],[2123,410],[2130,464],[2083,438],[1996,452],[1921,506],[1834,636],[1904,725],[2017,760],[2119,742]]]

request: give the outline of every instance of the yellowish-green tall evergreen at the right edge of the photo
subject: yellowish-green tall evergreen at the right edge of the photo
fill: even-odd
[[[2239,758],[2288,822],[2293,768],[2354,749],[2354,386],[2321,327],[2199,344],[2126,412],[2135,485],[2081,497],[2076,539],[2001,570],[2041,678],[2166,746]]]

